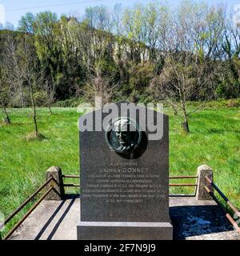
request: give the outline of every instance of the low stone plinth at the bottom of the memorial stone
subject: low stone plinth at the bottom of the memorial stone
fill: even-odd
[[[78,240],[172,240],[170,222],[79,222]]]

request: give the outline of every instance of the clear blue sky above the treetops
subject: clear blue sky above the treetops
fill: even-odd
[[[147,3],[151,0],[0,0],[0,23],[1,5],[5,9],[5,21],[18,26],[18,20],[26,12],[38,13],[44,10],[51,10],[57,14],[83,14],[86,7],[89,6],[114,6],[115,3],[122,3],[122,6],[131,6],[134,2]],[[181,0],[165,0],[170,5],[178,5]],[[202,2],[202,1],[199,1]],[[208,3],[218,4],[225,3],[228,7],[233,8],[234,5],[240,4],[240,0],[212,0]]]

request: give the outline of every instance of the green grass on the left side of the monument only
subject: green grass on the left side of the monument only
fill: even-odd
[[[46,109],[38,110],[39,131],[46,139],[28,142],[26,137],[34,130],[31,113],[30,109],[10,110],[12,125],[0,124],[0,212],[5,216],[45,181],[50,166],[78,174],[77,111],[54,109],[50,115]]]

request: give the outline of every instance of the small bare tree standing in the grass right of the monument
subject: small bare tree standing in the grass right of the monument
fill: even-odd
[[[166,58],[162,73],[152,80],[150,89],[160,95],[162,100],[170,103],[174,114],[182,118],[183,130],[189,133],[190,115],[199,110],[204,102],[191,109],[188,109],[187,102],[190,102],[193,98],[199,100],[201,90],[208,86],[211,79],[214,79],[215,73],[209,72],[208,76],[203,78],[206,70],[205,64],[196,65],[194,64],[194,58],[192,58],[191,63],[186,66],[186,64],[181,63],[181,59],[178,57],[174,60],[172,56]]]

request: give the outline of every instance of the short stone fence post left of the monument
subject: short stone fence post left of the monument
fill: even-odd
[[[46,186],[46,190],[50,189],[50,186],[53,186],[54,190],[46,196],[45,200],[60,201],[65,194],[62,180],[62,169],[56,166],[50,167],[50,169],[46,171],[46,181],[49,180],[51,177],[53,177],[56,182],[51,181]]]

